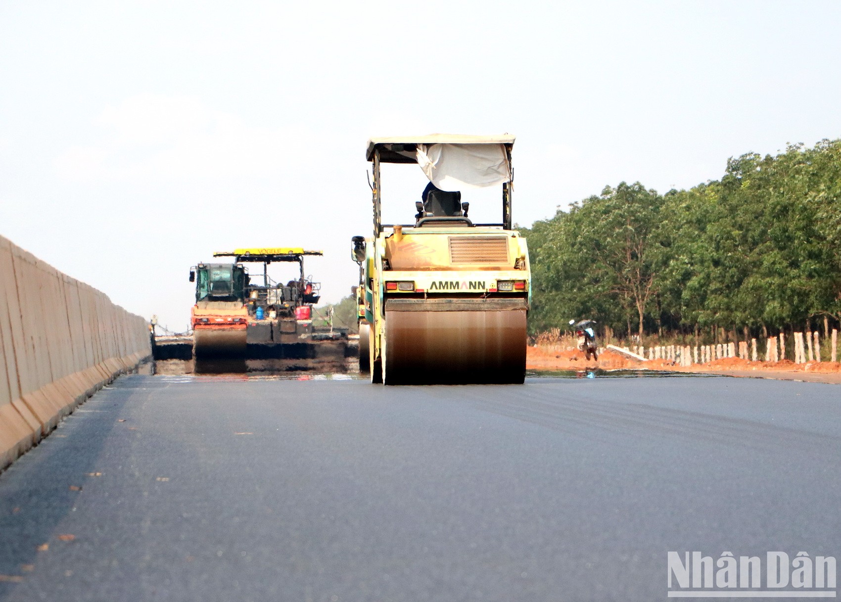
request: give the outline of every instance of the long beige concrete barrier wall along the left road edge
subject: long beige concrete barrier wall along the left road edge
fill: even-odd
[[[145,319],[0,236],[0,470],[149,356]]]

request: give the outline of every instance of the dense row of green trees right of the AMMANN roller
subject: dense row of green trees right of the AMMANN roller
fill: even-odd
[[[569,319],[617,335],[775,335],[841,318],[841,140],[727,161],[660,194],[636,182],[521,228],[532,334]]]

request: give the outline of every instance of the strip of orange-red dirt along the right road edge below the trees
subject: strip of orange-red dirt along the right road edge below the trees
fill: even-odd
[[[672,370],[674,372],[708,372],[732,376],[759,378],[783,378],[807,380],[819,383],[841,383],[841,362],[807,362],[796,364],[791,360],[780,362],[751,362],[738,357],[726,357],[706,364],[690,367],[674,365],[667,360],[640,362],[617,351],[604,351],[598,361],[588,361],[581,351],[560,351],[550,346],[529,347],[526,354],[526,368],[529,370],[584,370],[601,368],[648,368],[649,370]]]

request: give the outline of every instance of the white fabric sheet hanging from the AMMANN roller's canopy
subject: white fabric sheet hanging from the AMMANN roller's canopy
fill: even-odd
[[[418,165],[447,192],[495,186],[511,179],[505,145],[417,145]]]

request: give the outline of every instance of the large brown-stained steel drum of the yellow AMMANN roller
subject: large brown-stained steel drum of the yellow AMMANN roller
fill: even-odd
[[[385,312],[385,384],[522,383],[526,309]]]

